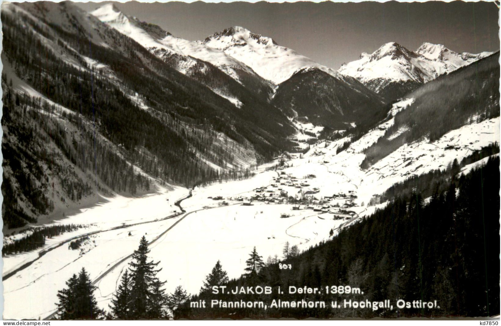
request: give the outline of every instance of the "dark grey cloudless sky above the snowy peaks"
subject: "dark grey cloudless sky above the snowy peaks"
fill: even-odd
[[[78,5],[92,11],[102,4]],[[230,26],[242,26],[334,69],[387,42],[409,50],[423,42],[456,52],[499,49],[499,10],[492,2],[115,4],[125,14],[187,40],[203,40]]]

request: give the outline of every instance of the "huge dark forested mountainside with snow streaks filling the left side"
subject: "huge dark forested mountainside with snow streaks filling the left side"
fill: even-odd
[[[148,178],[190,185],[245,170],[289,146],[294,128],[266,101],[236,109],[71,3],[4,4],[2,22],[6,224],[101,189],[148,191]]]

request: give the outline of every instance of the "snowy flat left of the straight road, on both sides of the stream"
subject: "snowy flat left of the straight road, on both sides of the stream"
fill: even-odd
[[[108,202],[55,222],[85,224],[87,227],[47,239],[46,244],[37,250],[3,257],[5,276],[39,257],[40,252],[52,249],[26,269],[3,280],[4,319],[46,317],[55,307],[57,290],[64,287],[65,281],[73,273],[85,267],[95,278],[107,266],[132,253],[143,234],[148,232],[151,237],[160,234],[179,217],[161,219],[173,214],[174,210],[179,211],[174,202],[188,193],[188,189],[176,187],[171,191],[163,188],[157,194],[140,198],[109,198]],[[130,224],[136,225],[105,231]],[[103,232],[90,236],[91,244],[84,247],[83,254],[80,250],[68,249],[68,243],[58,247],[58,244],[68,239],[96,231]],[[19,306],[17,302],[28,304]]]

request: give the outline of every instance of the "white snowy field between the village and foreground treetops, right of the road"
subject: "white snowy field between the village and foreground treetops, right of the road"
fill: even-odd
[[[283,212],[295,215],[281,218]],[[306,249],[327,239],[333,222],[320,219],[312,210],[293,213],[291,205],[221,206],[186,216],[173,232],[166,233],[150,246],[150,255],[155,261],[161,261],[159,267],[163,269],[158,276],[167,280],[167,292],[182,285],[189,293],[197,293],[217,260],[221,261],[229,278],[238,277],[244,272],[245,260],[254,246],[265,261],[275,254],[281,258],[287,241],[291,246]],[[335,222],[341,224],[343,221]],[[103,297],[98,300],[108,302],[111,296],[106,295],[114,290],[121,272],[120,269],[103,278],[101,284],[108,286],[100,286]],[[107,305],[102,304],[103,307]]]

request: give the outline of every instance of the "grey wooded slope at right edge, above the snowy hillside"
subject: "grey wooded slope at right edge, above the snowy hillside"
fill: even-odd
[[[433,142],[460,126],[498,117],[498,60],[499,52],[407,94],[415,100],[396,113],[395,123],[364,151],[366,158],[361,166],[367,168],[398,147],[423,137]]]

